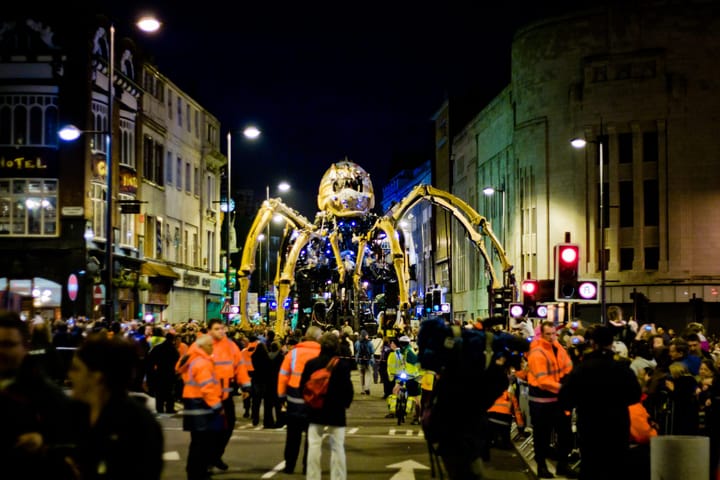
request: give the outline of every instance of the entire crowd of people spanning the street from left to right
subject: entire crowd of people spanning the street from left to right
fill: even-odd
[[[483,329],[481,322],[465,327]],[[492,331],[500,333],[497,327]],[[666,434],[709,437],[715,471],[720,343],[707,338],[702,325],[690,324],[676,334],[625,321],[613,306],[607,325],[546,321],[510,333],[519,338],[528,332],[528,351],[493,364],[503,370],[507,384],[493,380],[504,392],[494,403],[485,402],[489,408],[478,417],[483,433],[470,433],[475,440],[482,437],[473,456],[487,460],[490,447],[510,448],[514,422],[521,433],[526,425],[532,429],[539,478],[650,478],[650,438]],[[307,478],[320,478],[327,431],[331,478],[344,479],[352,371],[359,375],[359,394],[381,383],[384,399],[397,392],[396,374],[409,373],[413,423],[424,422],[435,377],[452,377],[421,366],[427,352],[418,351],[417,334],[410,328],[375,335],[353,332],[348,325],[327,328],[322,308],[313,311],[304,331],[282,336],[262,327],[241,331],[219,319],[167,326],[82,320],[50,325],[2,312],[0,423],[8,428],[0,434],[0,461],[4,471],[23,478],[45,478],[52,471],[68,479],[158,479],[163,452],[158,417],[182,414],[183,428],[190,432],[187,478],[204,480],[213,469],[228,469],[223,455],[239,415],[235,399],[241,397],[237,404],[253,425],[286,428],[286,473],[294,473],[300,462]],[[314,411],[303,399],[303,387],[333,357],[340,361],[331,377],[332,394]],[[527,386],[525,410],[518,402],[520,385]],[[455,387],[467,385],[443,386]],[[155,415],[129,395],[132,391],[154,397]],[[448,437],[457,441],[462,438],[457,432]],[[573,466],[578,452],[579,471]],[[129,455],[136,461],[125,461]],[[554,473],[549,458],[557,460]],[[470,474],[466,467],[474,462],[448,461],[446,467],[459,475]],[[626,468],[618,471],[617,465]]]

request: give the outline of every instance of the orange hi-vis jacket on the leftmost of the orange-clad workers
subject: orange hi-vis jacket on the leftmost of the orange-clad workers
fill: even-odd
[[[219,409],[222,406],[222,390],[215,376],[213,360],[203,349],[193,343],[188,356],[178,361],[178,371],[183,377],[183,398],[202,399],[208,407]]]

